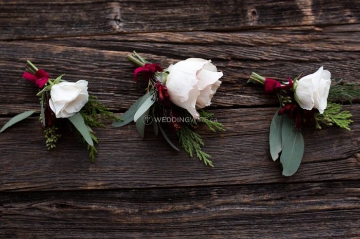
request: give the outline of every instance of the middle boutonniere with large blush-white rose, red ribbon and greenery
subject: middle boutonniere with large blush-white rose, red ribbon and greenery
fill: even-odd
[[[190,155],[196,155],[205,165],[213,167],[210,155],[202,151],[204,142],[196,133],[200,123],[215,131],[224,131],[223,124],[213,118],[213,114],[203,108],[211,104],[211,98],[218,90],[223,76],[210,60],[189,58],[163,69],[156,63],[148,62],[135,51],[127,58],[138,68],[134,78],[142,76],[149,82],[146,94],[141,96],[126,111],[114,127],[121,127],[130,122],[136,123],[136,129],[144,137],[146,125],[152,125],[155,135],[160,131],[165,140],[175,150],[176,145],[167,132],[175,132],[179,143]]]

